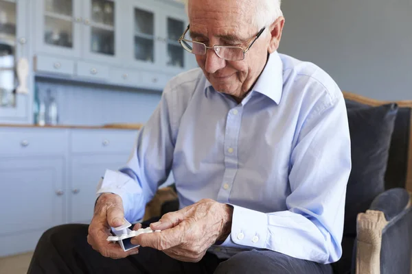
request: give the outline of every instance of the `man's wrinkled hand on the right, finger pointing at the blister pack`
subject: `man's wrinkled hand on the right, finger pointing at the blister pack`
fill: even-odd
[[[232,214],[231,206],[203,199],[152,223],[150,228],[160,233],[140,234],[131,242],[161,250],[176,260],[198,262],[216,240],[229,236]]]

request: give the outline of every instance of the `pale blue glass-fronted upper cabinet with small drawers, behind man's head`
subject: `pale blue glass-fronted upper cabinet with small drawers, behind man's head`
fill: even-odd
[[[181,4],[36,2],[34,69],[38,75],[163,90],[174,75],[196,66],[194,56],[177,42],[187,26]]]

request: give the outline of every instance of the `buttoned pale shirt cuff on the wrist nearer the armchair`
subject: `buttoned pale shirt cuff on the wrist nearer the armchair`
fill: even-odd
[[[256,249],[266,248],[268,235],[268,216],[259,211],[233,206],[231,234],[222,247],[242,245]],[[236,245],[235,245],[236,244]],[[237,246],[237,248],[240,248]]]

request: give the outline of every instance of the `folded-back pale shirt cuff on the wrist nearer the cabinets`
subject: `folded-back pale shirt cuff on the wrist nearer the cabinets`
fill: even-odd
[[[96,199],[103,193],[117,194],[122,198],[124,216],[126,217],[132,213],[130,211],[133,208],[135,197],[141,195],[142,191],[137,182],[128,175],[119,171],[106,170],[104,177],[98,184]]]

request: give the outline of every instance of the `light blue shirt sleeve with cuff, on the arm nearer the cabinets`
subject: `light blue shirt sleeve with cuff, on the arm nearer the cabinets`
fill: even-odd
[[[137,134],[130,158],[119,171],[106,171],[97,194],[112,192],[122,197],[124,216],[129,222],[143,218],[146,203],[165,182],[174,151],[174,101],[170,84],[148,122]]]

